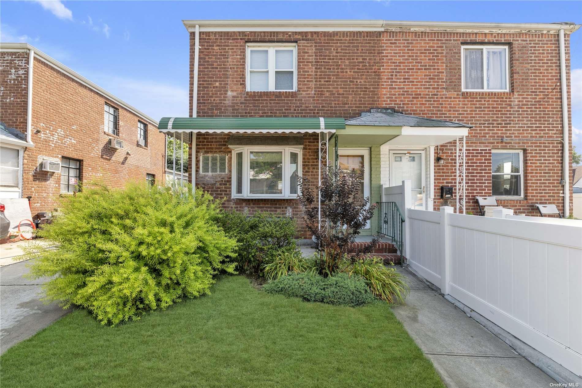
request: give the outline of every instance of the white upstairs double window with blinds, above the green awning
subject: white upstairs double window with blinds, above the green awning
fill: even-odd
[[[296,44],[247,44],[247,91],[297,90]]]

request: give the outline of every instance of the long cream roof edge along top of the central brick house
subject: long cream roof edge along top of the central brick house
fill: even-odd
[[[196,25],[200,31],[384,31],[459,30],[459,31],[553,31],[563,29],[573,33],[580,28],[576,23],[484,23],[484,22],[430,22],[414,20],[346,20],[346,19],[240,19],[240,20],[182,20],[188,31]]]

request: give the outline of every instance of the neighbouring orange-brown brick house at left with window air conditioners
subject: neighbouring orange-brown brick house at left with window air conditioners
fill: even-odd
[[[0,198],[31,196],[34,216],[81,181],[164,181],[158,122],[90,80],[29,44],[2,43],[0,82]]]

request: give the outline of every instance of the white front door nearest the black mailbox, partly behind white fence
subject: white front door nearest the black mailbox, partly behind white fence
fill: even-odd
[[[394,151],[390,154],[390,185],[409,180],[414,209],[424,209],[424,160],[420,151]]]

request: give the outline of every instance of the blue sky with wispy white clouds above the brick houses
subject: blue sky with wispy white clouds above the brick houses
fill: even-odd
[[[188,115],[182,19],[582,23],[581,1],[3,1],[1,41],[26,41],[155,119]],[[574,144],[582,151],[582,30],[572,34]]]

